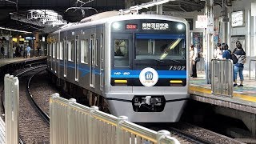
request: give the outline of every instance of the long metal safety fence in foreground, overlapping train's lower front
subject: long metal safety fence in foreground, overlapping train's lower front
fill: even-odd
[[[83,106],[74,98],[67,100],[53,94],[50,98],[51,144],[177,144],[170,132],[158,132],[128,122],[126,116],[115,117]]]

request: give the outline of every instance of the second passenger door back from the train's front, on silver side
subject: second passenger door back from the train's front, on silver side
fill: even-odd
[[[79,36],[76,36],[75,38],[75,46],[74,46],[74,65],[75,65],[75,81],[78,82],[79,78]]]

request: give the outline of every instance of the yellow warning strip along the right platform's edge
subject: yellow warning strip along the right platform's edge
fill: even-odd
[[[206,89],[201,86],[190,86],[190,90],[197,91],[200,93],[205,93],[205,94],[211,94],[210,89]],[[234,93],[233,96],[245,101],[256,102],[256,97],[252,97],[250,95]]]

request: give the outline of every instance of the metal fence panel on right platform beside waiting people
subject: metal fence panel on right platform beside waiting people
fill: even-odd
[[[210,74],[212,94],[233,97],[233,61],[230,59],[212,59]]]

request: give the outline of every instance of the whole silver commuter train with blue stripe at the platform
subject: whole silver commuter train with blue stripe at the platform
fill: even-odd
[[[188,30],[182,18],[96,14],[48,35],[48,70],[90,106],[130,122],[177,122],[189,98]]]

